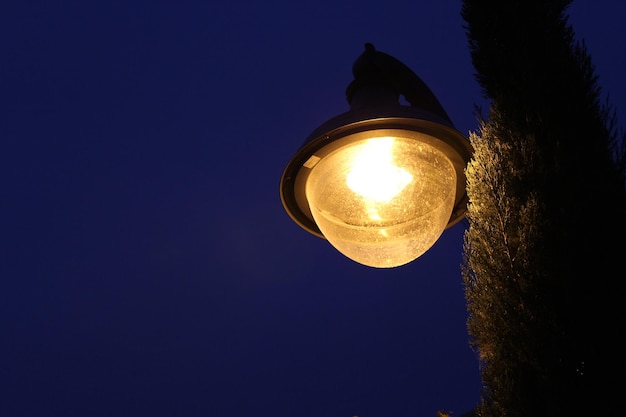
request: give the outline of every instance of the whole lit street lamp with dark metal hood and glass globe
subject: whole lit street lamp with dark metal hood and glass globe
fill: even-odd
[[[352,72],[350,110],[311,133],[283,171],[280,196],[306,231],[360,264],[392,268],[464,217],[472,149],[397,59],[368,43]]]

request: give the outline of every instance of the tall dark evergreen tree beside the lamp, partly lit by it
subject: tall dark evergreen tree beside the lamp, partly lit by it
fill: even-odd
[[[483,417],[623,413],[624,135],[570,3],[463,2],[491,101],[470,134],[463,264]]]

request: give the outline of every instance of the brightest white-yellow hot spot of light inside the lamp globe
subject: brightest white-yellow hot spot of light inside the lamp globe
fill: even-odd
[[[353,156],[348,173],[348,187],[374,202],[387,202],[397,196],[412,180],[405,169],[393,164],[393,138],[368,140]],[[378,216],[375,210],[371,215]]]

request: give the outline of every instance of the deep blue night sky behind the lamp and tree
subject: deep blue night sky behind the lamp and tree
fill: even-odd
[[[354,263],[278,193],[365,42],[458,130],[484,104],[460,0],[0,7],[0,415],[414,417],[480,398],[464,223]],[[626,123],[626,3],[570,9]],[[532,28],[529,28],[532,30]]]

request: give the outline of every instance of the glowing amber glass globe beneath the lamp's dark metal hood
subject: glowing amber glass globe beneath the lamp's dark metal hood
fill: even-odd
[[[427,141],[346,141],[308,164],[306,198],[326,239],[348,258],[390,268],[426,252],[445,229],[456,172]]]

